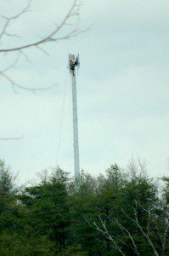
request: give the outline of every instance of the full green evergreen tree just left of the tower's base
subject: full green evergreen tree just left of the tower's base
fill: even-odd
[[[69,239],[69,207],[66,189],[67,175],[54,169],[48,180],[25,188],[20,200],[31,212],[30,224],[41,236],[54,241],[56,250],[64,249]]]

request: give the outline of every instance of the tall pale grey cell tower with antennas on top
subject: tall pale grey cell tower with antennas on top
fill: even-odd
[[[80,174],[79,166],[79,138],[78,138],[78,122],[77,122],[77,103],[76,103],[76,68],[79,68],[79,55],[69,55],[69,67],[72,84],[72,106],[73,106],[73,147],[74,147],[74,166],[75,179]]]

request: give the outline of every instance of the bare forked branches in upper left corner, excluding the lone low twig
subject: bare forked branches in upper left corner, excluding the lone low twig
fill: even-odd
[[[24,15],[25,13],[27,13],[30,9],[30,6],[31,6],[31,1],[29,1],[27,3],[27,5],[25,6],[24,9],[22,9],[20,11],[20,13],[18,13],[17,15],[14,15],[12,17],[6,17],[6,16],[2,16],[3,19],[6,20],[4,26],[3,26],[3,29],[2,29],[2,32],[0,32],[0,41],[2,40],[2,38],[6,35],[6,36],[10,36],[10,37],[13,37],[13,36],[18,36],[18,35],[15,35],[15,34],[11,34],[11,33],[8,33],[8,26],[10,25],[10,23],[18,18],[20,18],[21,15]],[[30,88],[30,87],[26,87],[24,85],[21,85],[21,84],[18,84],[17,82],[14,81],[14,79],[12,79],[9,75],[8,75],[8,71],[15,67],[16,63],[19,61],[19,58],[20,58],[20,55],[23,55],[25,57],[25,60],[26,61],[29,61],[29,58],[27,57],[27,55],[25,54],[24,52],[24,49],[28,49],[28,48],[31,48],[31,47],[35,47],[39,50],[42,51],[43,54],[45,55],[49,55],[48,54],[48,51],[46,51],[45,49],[42,49],[42,45],[43,44],[46,44],[46,43],[49,43],[49,42],[56,42],[56,41],[59,41],[59,40],[64,40],[64,39],[69,39],[69,38],[72,38],[72,37],[76,37],[77,34],[81,33],[81,32],[84,32],[82,30],[80,30],[78,28],[78,26],[75,26],[73,28],[70,29],[69,32],[67,32],[64,36],[62,37],[57,37],[57,34],[58,32],[64,27],[64,26],[74,26],[74,24],[70,24],[69,23],[69,20],[71,17],[73,16],[78,16],[79,15],[79,10],[80,10],[80,7],[81,7],[81,3],[79,3],[79,0],[74,0],[74,2],[72,3],[71,7],[70,7],[70,10],[69,12],[67,13],[67,15],[65,15],[64,19],[61,20],[61,22],[59,23],[59,25],[57,26],[56,24],[55,27],[54,27],[54,30],[52,32],[50,32],[46,37],[40,39],[40,40],[37,40],[36,42],[33,42],[31,44],[25,44],[25,45],[20,45],[18,47],[14,47],[14,48],[9,48],[9,49],[0,49],[0,53],[8,53],[8,52],[18,52],[18,56],[16,57],[16,60],[7,68],[3,69],[3,70],[0,70],[0,76],[3,77],[3,79],[6,79],[8,81],[8,83],[10,84],[10,86],[12,87],[12,89],[14,90],[14,92],[16,93],[16,89],[20,89],[20,90],[31,90],[32,92],[36,92],[37,90],[49,90],[51,88],[54,87],[54,85],[50,85],[50,86],[47,86],[47,87],[41,87],[41,88]]]

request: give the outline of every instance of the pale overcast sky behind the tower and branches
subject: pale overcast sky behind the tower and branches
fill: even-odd
[[[1,13],[13,15],[26,1],[0,0]],[[42,38],[70,8],[69,0],[34,0],[31,13],[10,27],[21,38],[3,40],[3,47]],[[57,148],[69,53],[81,55],[77,102],[81,167],[98,175],[110,164],[127,166],[132,157],[148,162],[149,175],[167,175],[169,157],[169,2],[166,0],[83,1],[80,27],[92,28],[59,44],[48,44],[49,56],[27,49],[11,75],[19,84],[49,91],[18,91],[0,77],[0,157],[20,172],[22,181],[44,168],[59,165],[73,173],[70,128],[70,77]],[[1,22],[3,22],[1,20]],[[1,23],[2,24],[2,23]],[[1,55],[0,68],[14,55]],[[71,143],[70,143],[71,142]]]

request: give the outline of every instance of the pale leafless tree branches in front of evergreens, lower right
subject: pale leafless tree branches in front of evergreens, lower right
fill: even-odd
[[[131,218],[127,212],[125,212],[123,209],[122,212],[127,217],[128,220],[132,221],[133,224],[135,224],[136,228],[141,232],[141,234],[144,236],[145,241],[148,241],[149,247],[151,247],[153,253],[156,256],[160,255],[166,255],[166,237],[169,230],[169,216],[168,216],[168,207],[166,205],[161,205],[159,209],[157,208],[158,214],[155,212],[152,212],[151,210],[147,210],[144,207],[141,207],[142,210],[146,213],[146,230],[142,226],[142,224],[138,221],[138,212],[137,212],[138,204],[136,203],[136,207],[132,207],[134,218]],[[107,239],[109,239],[114,248],[121,253],[121,255],[126,255],[122,249],[121,245],[130,246],[132,248],[132,251],[136,253],[136,255],[140,256],[140,253],[138,251],[138,247],[136,242],[134,241],[134,238],[132,237],[132,234],[127,228],[125,228],[116,218],[110,218],[111,222],[113,224],[116,224],[116,226],[124,232],[124,234],[127,235],[129,240],[131,241],[131,245],[126,244],[124,241],[120,241],[117,236],[111,236],[110,232],[107,228],[106,220],[103,220],[99,217],[100,224],[96,224],[96,222],[89,222],[87,218],[85,218],[87,223],[92,225],[95,230],[98,230],[101,234],[103,234]],[[151,239],[152,233],[156,237],[156,241],[158,241],[158,244],[160,245],[160,250],[156,249],[154,241]]]

